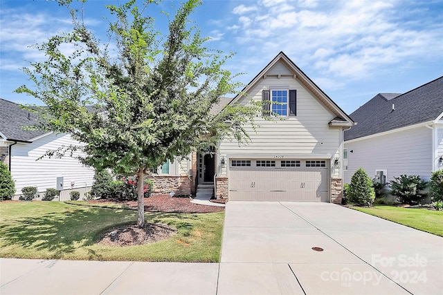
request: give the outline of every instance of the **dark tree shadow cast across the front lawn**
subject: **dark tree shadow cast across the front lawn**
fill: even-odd
[[[179,231],[191,231],[198,217],[192,214],[149,212],[146,222],[164,222]],[[169,222],[168,222],[169,221]],[[96,207],[67,207],[34,218],[10,218],[0,229],[2,247],[17,247],[12,256],[63,258],[76,249],[95,245],[105,231],[121,225],[135,224],[136,212]],[[24,249],[23,251],[20,250]],[[39,254],[39,251],[42,251]],[[89,256],[100,258],[94,249]],[[19,253],[23,253],[22,255]],[[8,256],[3,252],[3,256]]]

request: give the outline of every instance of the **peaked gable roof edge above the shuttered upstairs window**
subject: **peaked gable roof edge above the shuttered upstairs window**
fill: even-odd
[[[323,102],[323,104],[329,108],[334,115],[336,115],[336,118],[333,120],[334,123],[341,122],[341,126],[353,126],[354,121],[351,119],[349,115],[345,113],[335,102],[332,101],[332,99],[326,95],[305,73],[303,73],[296,64],[287,57],[282,51],[278,53],[274,59],[269,62],[267,66],[264,67],[264,69],[258,73],[254,79],[252,79],[249,84],[246,85],[246,87],[243,88],[241,91],[242,93],[248,93],[248,91],[251,90],[257,84],[257,82],[260,81],[260,79],[263,79],[263,77],[266,75],[266,73],[275,65],[278,63],[278,61],[282,61],[289,70],[293,73],[293,78],[298,79],[303,85],[305,85],[318,99],[320,99],[320,102]],[[233,98],[233,100],[230,102],[230,104],[233,104],[234,102],[237,102],[240,98],[244,97],[244,95],[239,94]],[[338,117],[338,118],[337,118]]]

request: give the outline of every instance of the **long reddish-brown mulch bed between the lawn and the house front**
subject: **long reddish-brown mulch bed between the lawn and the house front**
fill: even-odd
[[[224,207],[206,206],[190,202],[190,198],[171,198],[170,195],[156,195],[145,198],[145,212],[168,212],[168,213],[213,213],[224,211]],[[118,203],[125,204],[129,208],[136,209],[137,201],[113,202],[112,200],[92,200],[90,203]]]

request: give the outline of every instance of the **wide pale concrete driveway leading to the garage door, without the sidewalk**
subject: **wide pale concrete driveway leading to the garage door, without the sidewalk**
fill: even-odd
[[[443,238],[335,204],[227,204],[219,295],[442,292]]]

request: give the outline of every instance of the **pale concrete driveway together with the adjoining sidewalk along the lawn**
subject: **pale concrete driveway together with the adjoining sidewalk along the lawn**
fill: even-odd
[[[0,286],[0,294],[442,294],[443,238],[334,204],[228,202],[221,263],[1,258]]]

